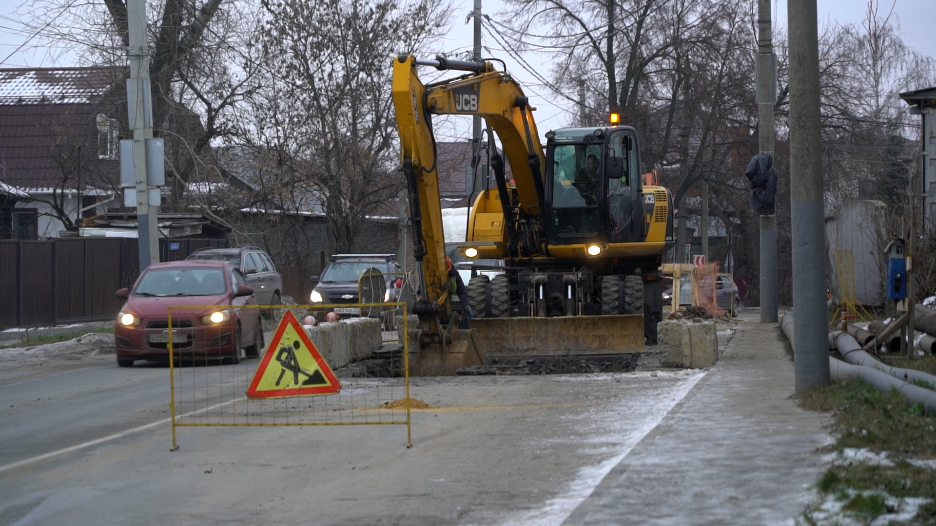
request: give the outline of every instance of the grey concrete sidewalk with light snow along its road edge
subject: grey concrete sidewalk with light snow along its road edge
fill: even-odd
[[[742,322],[706,377],[563,524],[792,524],[830,441],[793,386],[779,326]]]

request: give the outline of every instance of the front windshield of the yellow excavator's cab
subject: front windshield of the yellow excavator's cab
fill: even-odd
[[[560,239],[598,233],[601,156],[600,144],[559,144],[553,149],[552,231]]]

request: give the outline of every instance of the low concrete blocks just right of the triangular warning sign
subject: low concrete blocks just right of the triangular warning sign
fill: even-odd
[[[332,369],[367,358],[382,343],[380,320],[375,318],[348,318],[304,327]]]

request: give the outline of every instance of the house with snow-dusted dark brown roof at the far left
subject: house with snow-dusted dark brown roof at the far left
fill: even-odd
[[[128,74],[125,66],[0,69],[0,184],[18,194],[0,238],[54,238],[120,206]]]

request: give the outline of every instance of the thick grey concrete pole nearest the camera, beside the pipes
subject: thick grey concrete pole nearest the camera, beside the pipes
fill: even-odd
[[[816,0],[789,0],[790,215],[796,392],[828,384],[826,241]]]

